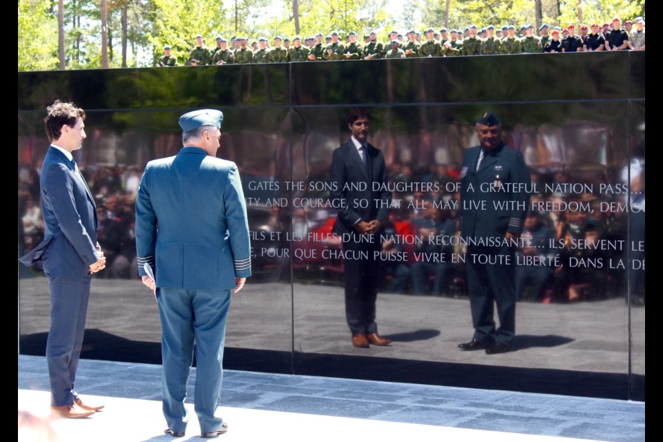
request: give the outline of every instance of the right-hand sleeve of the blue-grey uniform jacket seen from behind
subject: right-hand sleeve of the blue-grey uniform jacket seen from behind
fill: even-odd
[[[236,278],[247,278],[251,276],[249,220],[240,172],[235,164],[228,171],[228,181],[224,187],[223,199],[230,233],[230,244],[233,250],[235,276]]]

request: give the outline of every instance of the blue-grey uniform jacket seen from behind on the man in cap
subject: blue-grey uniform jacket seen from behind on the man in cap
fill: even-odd
[[[136,200],[139,272],[157,287],[233,289],[251,276],[249,223],[235,163],[185,146],[148,162]]]

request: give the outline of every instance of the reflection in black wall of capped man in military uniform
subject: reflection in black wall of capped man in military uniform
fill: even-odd
[[[499,119],[477,120],[479,146],[468,148],[461,169],[461,238],[466,262],[474,336],[461,350],[508,352],[516,328],[515,251],[520,244],[530,195],[523,155],[502,142]],[[499,328],[495,328],[497,304]]]

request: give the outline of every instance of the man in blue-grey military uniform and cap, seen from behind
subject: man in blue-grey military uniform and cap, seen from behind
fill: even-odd
[[[136,249],[143,283],[158,287],[163,411],[172,436],[184,436],[186,381],[197,375],[194,409],[202,437],[227,431],[215,416],[231,291],[251,276],[249,224],[237,166],[216,158],[223,114],[180,117],[184,147],[146,166],[136,200]],[[146,272],[154,269],[156,281]]]

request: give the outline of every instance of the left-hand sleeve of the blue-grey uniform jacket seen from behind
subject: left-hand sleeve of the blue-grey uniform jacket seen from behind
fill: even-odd
[[[136,256],[138,260],[138,274],[147,276],[144,265],[155,267],[155,244],[157,242],[157,215],[154,213],[149,190],[149,164],[140,179],[138,196],[136,198]]]

